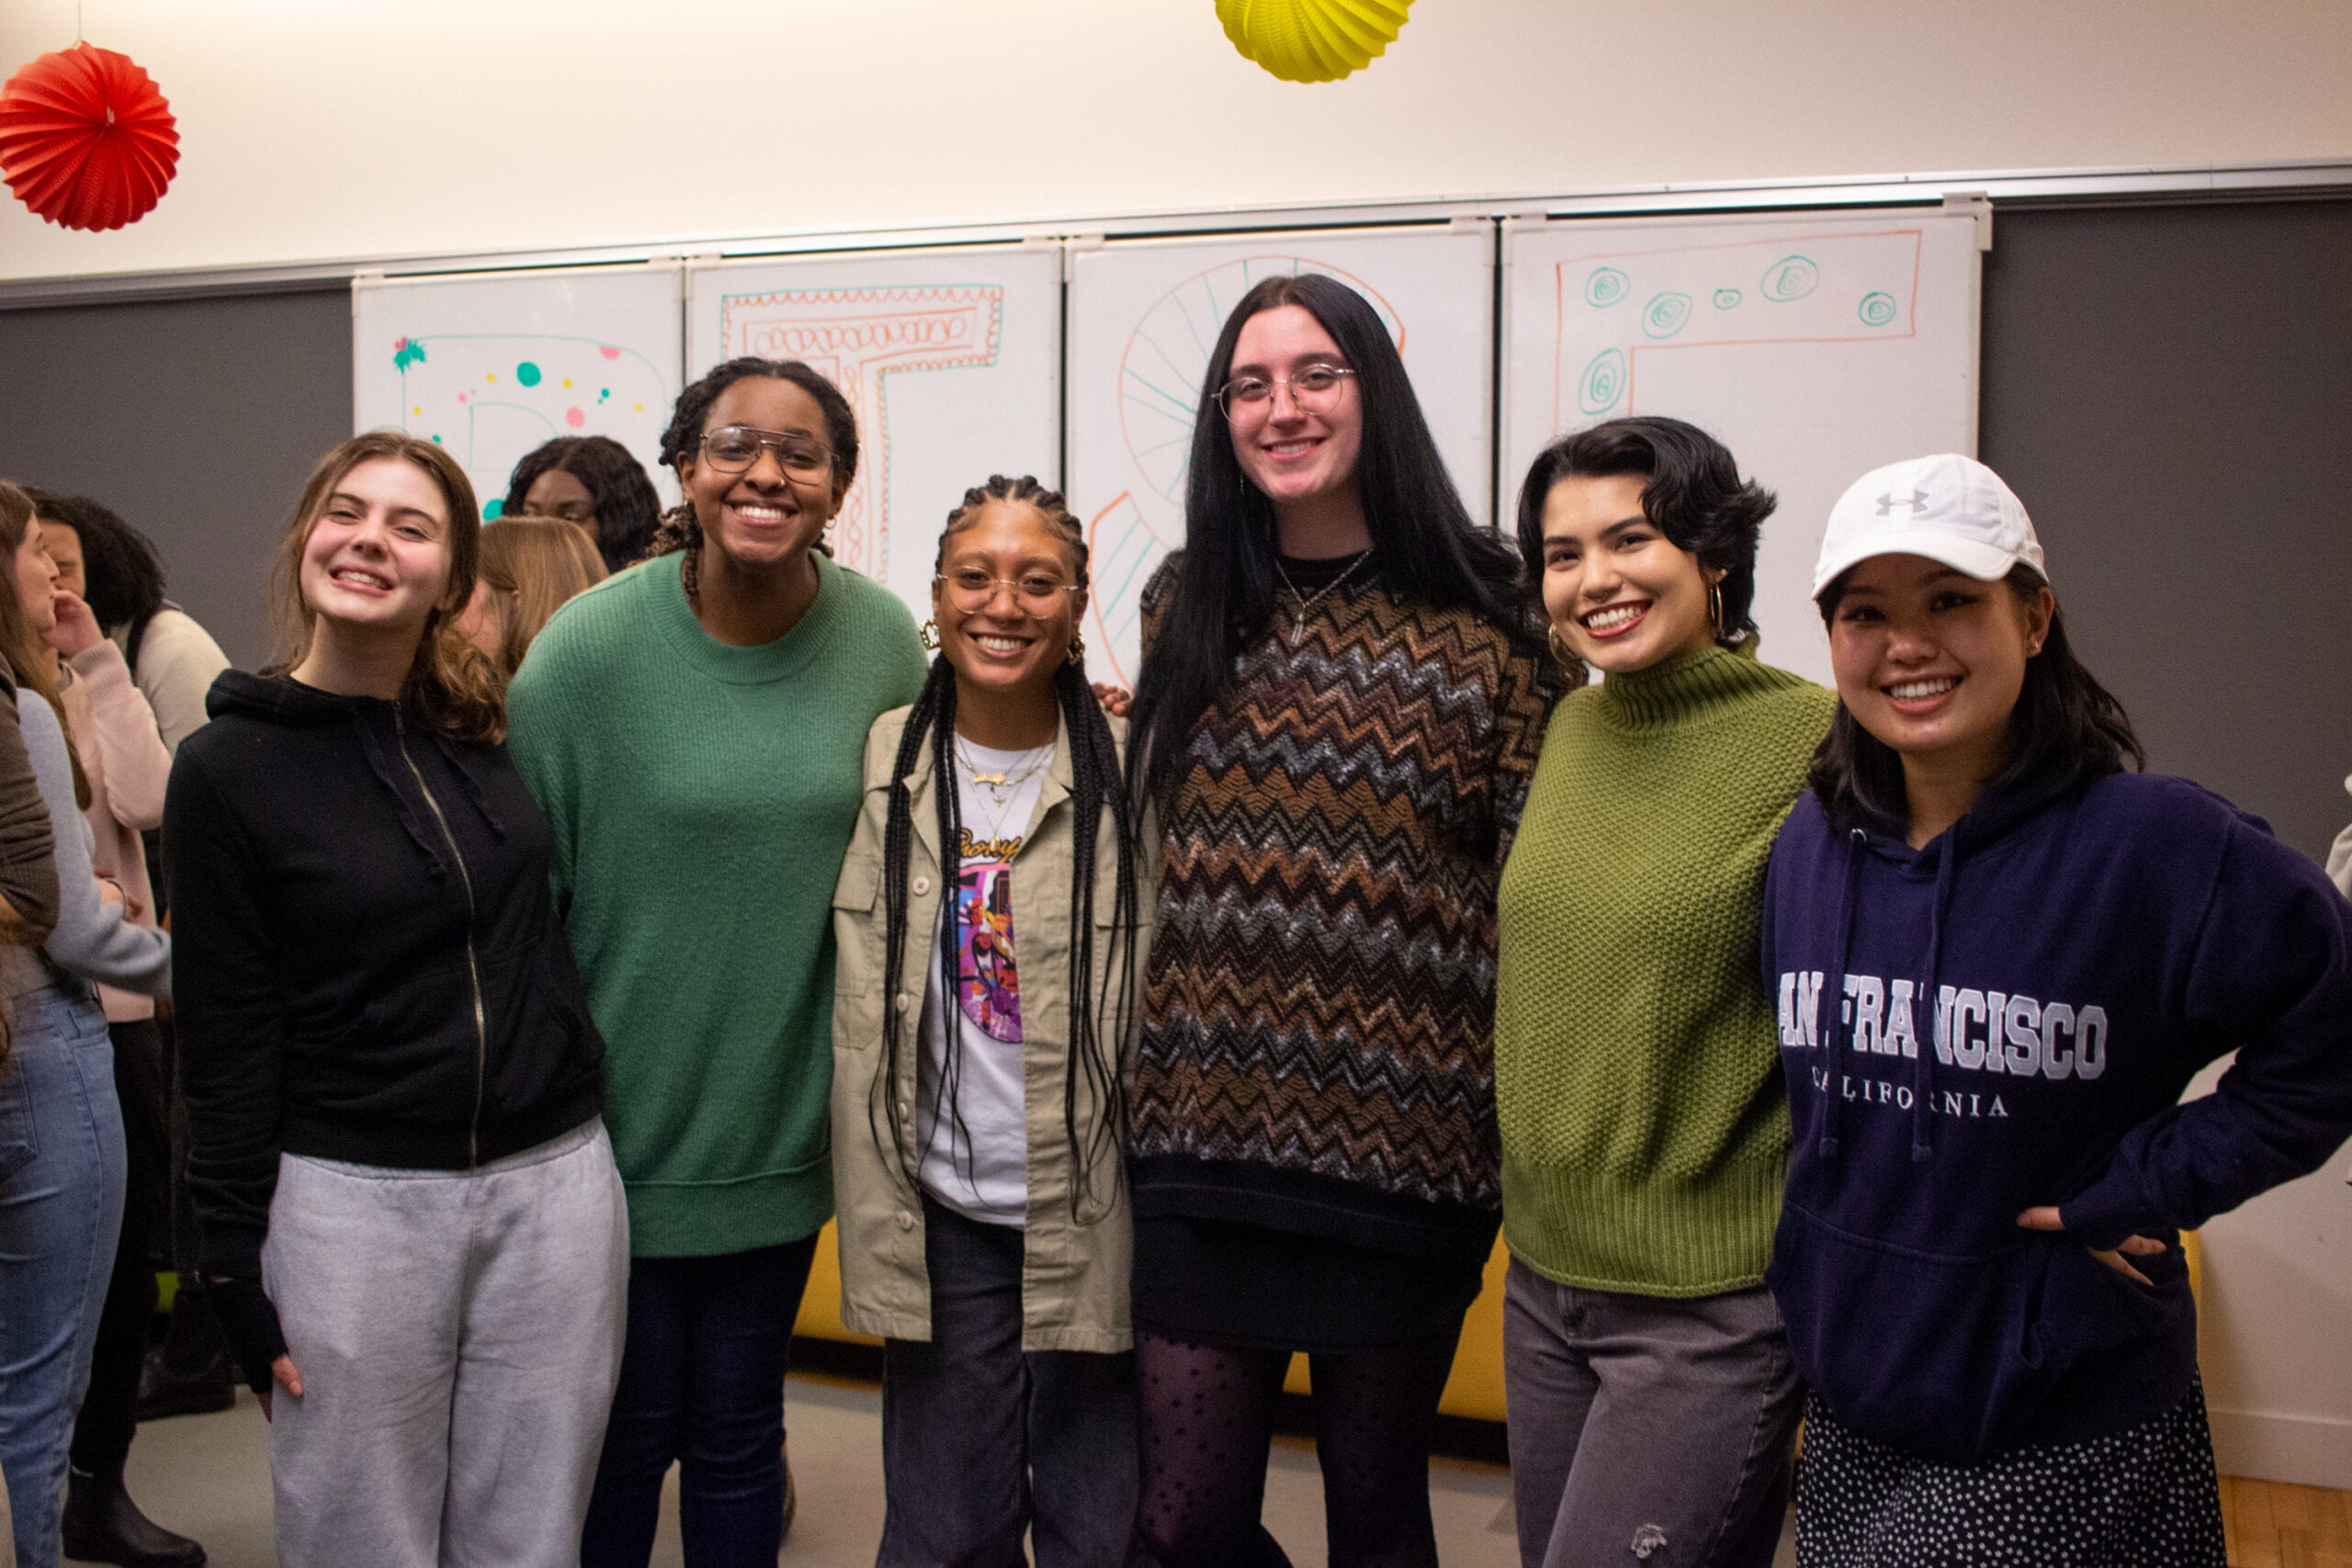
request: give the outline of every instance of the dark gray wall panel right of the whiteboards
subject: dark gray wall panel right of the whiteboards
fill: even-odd
[[[2183,773],[2321,856],[2352,820],[2352,202],[2009,212],[1980,451],[2084,663]]]

